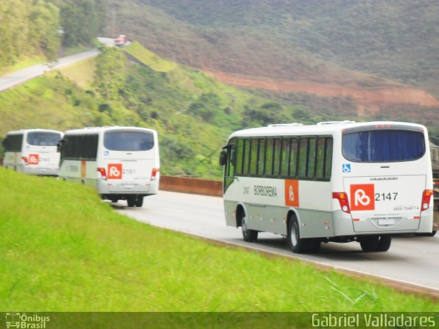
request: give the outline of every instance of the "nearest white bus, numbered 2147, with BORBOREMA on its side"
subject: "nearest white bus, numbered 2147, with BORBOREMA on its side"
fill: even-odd
[[[230,135],[224,165],[226,224],[244,240],[287,236],[293,252],[357,241],[385,252],[392,235],[431,233],[427,129],[399,122],[270,125]]]

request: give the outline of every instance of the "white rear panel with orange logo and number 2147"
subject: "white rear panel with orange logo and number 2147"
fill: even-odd
[[[425,175],[344,178],[355,232],[416,231]]]

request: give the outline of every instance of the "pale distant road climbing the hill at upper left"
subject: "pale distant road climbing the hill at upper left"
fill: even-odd
[[[47,71],[52,71],[56,69],[60,69],[63,66],[67,66],[73,64],[75,62],[79,62],[80,60],[85,60],[87,58],[92,58],[99,55],[99,51],[97,49],[93,49],[91,51],[85,51],[84,53],[77,53],[72,56],[67,56],[64,58],[58,59],[57,62],[54,62],[54,65],[49,64],[38,64],[34,66],[27,67],[26,69],[16,71],[14,73],[10,73],[8,75],[3,75],[0,77],[0,92],[6,90],[8,88],[12,88],[27,80],[31,80],[34,77],[38,77],[43,75]]]

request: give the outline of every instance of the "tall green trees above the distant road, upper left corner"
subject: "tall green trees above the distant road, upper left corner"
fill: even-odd
[[[26,58],[56,60],[60,45],[91,45],[105,22],[106,0],[0,1],[0,70]]]

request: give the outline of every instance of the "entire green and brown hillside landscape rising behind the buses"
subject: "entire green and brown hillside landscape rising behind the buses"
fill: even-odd
[[[163,173],[206,178],[219,177],[230,132],[270,123],[415,121],[438,144],[438,14],[433,0],[0,1],[0,72],[99,34],[154,51],[102,48],[1,93],[0,138],[35,126],[153,127]]]

